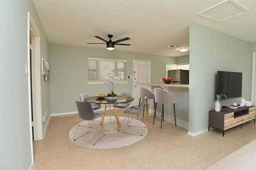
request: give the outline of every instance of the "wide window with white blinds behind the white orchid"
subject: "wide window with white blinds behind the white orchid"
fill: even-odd
[[[126,60],[87,58],[88,83],[104,81],[104,77],[120,77],[119,81],[126,81]]]

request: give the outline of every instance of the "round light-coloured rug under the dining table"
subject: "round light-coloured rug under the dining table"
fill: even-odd
[[[113,120],[114,119],[114,120]],[[103,135],[104,132],[99,132],[98,127],[100,125],[99,122],[101,117],[98,119],[95,119],[93,122],[93,137],[94,137],[94,143],[99,140]],[[130,123],[128,127],[128,124],[125,123],[124,125],[124,117],[119,117],[120,124],[122,126],[122,129],[119,132],[117,131],[118,127],[116,125],[115,118],[112,117],[105,117],[103,127],[101,130],[104,131],[105,129],[105,136],[102,137],[95,145],[92,145],[92,128],[90,128],[90,131],[88,132],[88,125],[89,121],[83,121],[80,123],[80,127],[77,130],[76,138],[81,136],[82,134],[88,132],[87,134],[81,136],[80,138],[73,140],[74,134],[76,132],[77,126],[75,125],[70,131],[69,131],[69,138],[70,140],[79,146],[85,147],[85,148],[92,148],[92,149],[113,149],[113,148],[122,148],[124,146],[129,146],[131,144],[134,144],[136,142],[139,142],[142,140],[147,134],[148,134],[148,128],[144,123],[142,123],[142,127],[140,126],[140,121],[131,118],[129,119]],[[128,120],[128,118],[127,118]],[[111,122],[110,124],[108,122]],[[90,127],[92,127],[92,121],[90,121]],[[86,127],[81,127],[86,126]],[[124,127],[123,127],[124,125]],[[146,128],[144,128],[146,127]],[[124,133],[125,132],[125,133]],[[137,135],[139,134],[139,135]],[[142,136],[140,136],[142,134]]]

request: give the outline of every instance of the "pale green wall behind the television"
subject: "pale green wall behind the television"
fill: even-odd
[[[242,97],[250,100],[252,44],[199,24],[190,25],[189,132],[208,130],[208,111],[214,109],[216,73],[243,73]],[[221,105],[240,103],[240,98]]]

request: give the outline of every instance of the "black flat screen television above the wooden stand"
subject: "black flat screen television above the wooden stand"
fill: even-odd
[[[226,95],[228,99],[242,97],[242,73],[217,71],[216,94]]]

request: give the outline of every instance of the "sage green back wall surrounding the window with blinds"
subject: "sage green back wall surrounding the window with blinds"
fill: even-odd
[[[118,48],[117,48],[118,49]],[[176,63],[175,57],[133,53],[126,51],[108,51],[106,49],[89,48],[73,45],[50,43],[50,103],[51,113],[68,113],[77,111],[75,101],[80,100],[80,93],[90,96],[99,92],[107,93],[108,86],[87,84],[87,57],[125,59],[127,75],[133,75],[132,60],[148,60],[151,62],[151,83],[160,83],[165,75],[165,63]],[[132,79],[126,84],[118,84],[116,93],[132,92]]]

